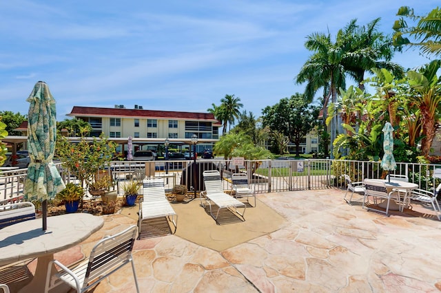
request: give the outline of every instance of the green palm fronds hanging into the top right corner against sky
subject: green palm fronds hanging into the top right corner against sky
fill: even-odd
[[[401,47],[403,45],[420,47],[422,54],[441,55],[441,8],[433,9],[426,16],[414,14],[409,6],[402,6],[398,9],[400,18],[393,23],[393,44]],[[404,18],[411,21],[418,21],[415,26],[409,26]],[[405,35],[413,37],[410,41]]]

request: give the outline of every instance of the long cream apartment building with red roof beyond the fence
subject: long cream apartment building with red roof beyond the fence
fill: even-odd
[[[127,138],[132,136],[133,151],[156,149],[168,138],[170,145],[189,149],[192,135],[198,137],[196,152],[213,149],[219,139],[221,123],[212,113],[183,111],[156,111],[134,105],[127,109],[124,105],[114,108],[74,106],[68,116],[89,122],[90,136],[104,133],[110,140],[121,143],[119,151],[127,151]]]

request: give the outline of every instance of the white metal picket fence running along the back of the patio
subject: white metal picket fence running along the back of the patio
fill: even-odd
[[[75,180],[63,169],[57,168],[65,182]],[[176,184],[184,184],[189,191],[203,191],[202,173],[205,170],[217,169],[223,175],[224,189],[231,188],[231,175],[235,172],[247,173],[249,182],[257,193],[278,191],[298,191],[322,188],[342,188],[345,185],[342,174],[347,174],[353,182],[365,178],[384,178],[387,171],[380,168],[380,162],[351,160],[245,160],[243,165],[235,165],[232,160],[197,160],[196,167],[192,160],[170,160],[154,162],[110,162],[106,168],[121,191],[121,184],[132,179],[134,171],[144,169],[146,175],[160,176],[165,179],[166,188],[170,191]],[[0,204],[21,200],[27,169],[0,172]],[[398,163],[396,171],[407,175],[425,190],[432,190],[441,182],[441,165]]]

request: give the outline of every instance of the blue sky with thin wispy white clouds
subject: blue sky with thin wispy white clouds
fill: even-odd
[[[258,117],[303,92],[294,78],[311,52],[305,37],[351,19],[381,17],[391,33],[400,6],[427,14],[439,0],[1,1],[0,111],[28,113],[48,83],[57,120],[73,106],[206,112],[234,94]],[[416,67],[418,51],[393,61]]]

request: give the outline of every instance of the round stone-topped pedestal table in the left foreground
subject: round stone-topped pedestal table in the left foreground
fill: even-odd
[[[54,259],[54,253],[81,243],[104,224],[102,217],[87,213],[48,217],[45,231],[41,221],[23,221],[0,230],[0,265],[38,259],[34,278],[19,292],[44,292],[48,263]]]

